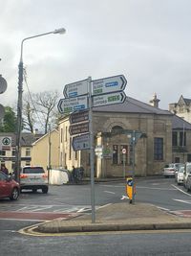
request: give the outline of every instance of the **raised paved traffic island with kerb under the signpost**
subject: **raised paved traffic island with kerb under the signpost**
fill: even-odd
[[[183,218],[163,211],[149,203],[129,203],[122,200],[107,204],[92,214],[79,214],[73,219],[55,219],[37,224],[33,232],[71,233],[125,230],[191,229],[191,217]]]

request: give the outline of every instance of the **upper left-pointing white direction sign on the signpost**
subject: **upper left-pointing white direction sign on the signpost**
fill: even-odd
[[[76,81],[70,84],[66,84],[63,90],[63,94],[65,98],[88,94],[88,80]]]

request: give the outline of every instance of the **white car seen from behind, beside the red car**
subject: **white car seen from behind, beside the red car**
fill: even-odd
[[[32,190],[36,192],[38,189],[46,194],[49,190],[48,175],[43,167],[40,166],[25,166],[20,173],[20,190]]]

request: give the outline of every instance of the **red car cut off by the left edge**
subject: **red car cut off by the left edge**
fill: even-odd
[[[0,198],[18,199],[20,194],[19,184],[10,176],[0,171]]]

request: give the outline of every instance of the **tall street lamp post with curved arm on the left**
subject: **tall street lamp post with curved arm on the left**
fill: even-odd
[[[26,37],[21,42],[21,55],[20,62],[18,64],[18,102],[17,102],[17,131],[16,131],[16,163],[15,163],[15,179],[20,181],[20,169],[21,169],[21,131],[22,131],[22,94],[23,94],[23,43],[28,39],[32,39],[35,37],[50,35],[50,34],[65,34],[66,30],[64,28],[54,30],[52,32],[32,35],[30,37]]]

